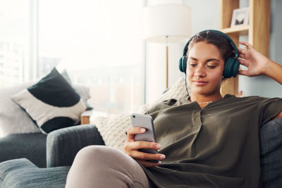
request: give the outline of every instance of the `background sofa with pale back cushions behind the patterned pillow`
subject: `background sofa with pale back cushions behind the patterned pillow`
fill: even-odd
[[[64,82],[66,87],[73,89],[73,92],[85,101],[85,104],[87,99],[90,99],[89,88],[82,85],[73,85],[70,81],[67,82],[66,75],[63,77],[59,72],[56,73],[56,76],[49,73],[44,78],[45,80],[48,78],[48,84],[50,82],[59,83],[59,87],[62,87],[63,84],[61,83]],[[44,78],[39,80],[41,88],[43,88]],[[13,101],[12,98],[12,96],[24,89],[34,88],[39,82],[25,82],[15,86],[0,88],[0,162],[14,158],[27,158],[39,168],[47,167],[47,134],[42,132],[40,127],[35,123],[35,120],[30,117],[30,114],[23,110],[23,107]],[[49,85],[47,87],[50,88]],[[46,94],[47,92],[44,93]],[[53,98],[59,99],[56,95],[53,95]],[[89,106],[87,108],[90,109]],[[44,112],[42,111],[42,113]],[[79,115],[77,116],[79,117]],[[78,120],[78,123],[75,123],[75,125],[79,124],[80,122]]]

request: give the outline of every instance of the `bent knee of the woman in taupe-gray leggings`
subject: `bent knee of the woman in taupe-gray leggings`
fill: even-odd
[[[108,146],[87,146],[75,156],[66,187],[150,187],[140,165]]]

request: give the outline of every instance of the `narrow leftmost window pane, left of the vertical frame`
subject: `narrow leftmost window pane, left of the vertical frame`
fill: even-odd
[[[26,80],[29,49],[29,4],[0,0],[0,86]]]

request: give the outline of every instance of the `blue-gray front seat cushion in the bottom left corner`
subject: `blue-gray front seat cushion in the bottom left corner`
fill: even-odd
[[[6,161],[0,165],[1,188],[52,187],[63,188],[70,166],[37,168],[26,158]],[[0,183],[0,185],[1,185]]]

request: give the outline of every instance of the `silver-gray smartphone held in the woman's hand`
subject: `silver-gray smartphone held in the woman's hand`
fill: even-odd
[[[151,115],[133,113],[130,115],[133,127],[143,127],[146,132],[143,134],[135,134],[135,141],[156,142],[156,135],[154,133],[154,123]],[[145,153],[158,153],[157,149],[140,149]],[[152,163],[159,163],[153,160]]]

